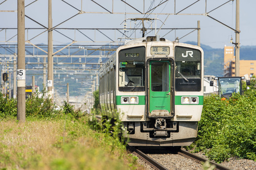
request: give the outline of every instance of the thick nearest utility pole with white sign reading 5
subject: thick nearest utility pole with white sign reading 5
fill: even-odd
[[[18,0],[17,120],[26,120],[25,0]]]

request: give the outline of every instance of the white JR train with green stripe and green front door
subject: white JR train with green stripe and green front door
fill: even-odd
[[[203,107],[203,50],[163,38],[120,46],[100,69],[102,115],[129,130],[129,145],[184,146],[197,137]]]

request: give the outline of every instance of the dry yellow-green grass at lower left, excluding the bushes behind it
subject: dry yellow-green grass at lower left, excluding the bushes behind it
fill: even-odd
[[[0,122],[0,169],[137,169],[136,157],[83,119]],[[116,142],[113,149],[113,140]]]

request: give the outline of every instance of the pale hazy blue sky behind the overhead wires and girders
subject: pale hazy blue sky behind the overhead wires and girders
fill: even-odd
[[[25,5],[32,3],[34,0],[25,0]],[[112,0],[94,0],[108,11],[112,11]],[[68,5],[67,3],[70,5]],[[61,0],[52,0],[52,10],[53,10],[53,26],[58,25],[62,21],[74,16],[78,13],[78,10],[85,12],[107,12],[103,8],[99,7],[97,4],[93,3],[90,0],[83,1],[68,1],[65,2]],[[81,4],[82,2],[82,4]],[[147,11],[147,9],[151,9],[150,5],[156,6],[164,1],[145,1],[145,8],[143,9],[143,0],[126,0],[126,3],[132,5],[137,10],[143,12]],[[176,2],[176,4],[174,3]],[[174,13],[174,5],[176,5],[176,13],[181,11],[188,5],[196,2],[192,0],[170,0],[167,3],[159,6],[156,10],[153,10],[153,13]],[[201,0],[195,5],[185,9],[181,12],[181,14],[203,14],[205,13],[205,0]],[[220,5],[228,2],[228,0],[208,0],[206,11],[209,12],[212,9],[219,7]],[[3,3],[3,4],[1,4]],[[0,0],[0,11],[6,10],[17,10],[17,0]],[[73,6],[73,7],[72,7]],[[233,38],[235,41],[235,33],[233,30],[221,25],[221,23],[217,22],[214,19],[211,19],[208,16],[203,15],[148,15],[144,16],[142,14],[129,14],[129,13],[138,13],[135,9],[125,5],[123,2],[119,0],[114,0],[113,11],[120,14],[95,14],[95,13],[86,13],[79,14],[67,22],[62,23],[57,28],[123,28],[123,20],[125,18],[135,18],[135,17],[148,17],[148,18],[159,18],[161,21],[157,20],[157,28],[162,26],[162,22],[165,20],[165,25],[162,28],[196,28],[197,20],[200,20],[201,26],[201,43],[205,45],[209,45],[214,48],[223,48],[224,45],[232,45],[230,43],[230,38]],[[254,18],[255,12],[254,9],[256,7],[255,0],[241,0],[240,1],[240,43],[242,45],[256,45],[256,20]],[[75,9],[76,8],[76,9]],[[77,10],[78,9],[78,10]],[[126,15],[124,14],[126,13]],[[25,8],[25,14],[30,18],[36,20],[41,25],[48,27],[48,1],[47,0],[38,0],[35,3],[29,5]],[[227,4],[221,6],[217,10],[214,10],[209,13],[211,17],[214,17],[221,22],[225,23],[229,27],[235,29],[236,28],[236,1],[230,1]],[[17,12],[0,12],[0,28],[16,28],[17,27]],[[127,27],[138,27],[141,28],[141,24],[139,21],[136,23],[134,21],[127,20]],[[145,27],[155,28],[155,21],[145,22]],[[29,18],[25,20],[26,28],[43,28],[38,23],[32,21]],[[15,30],[1,31],[0,29],[0,43],[3,41],[15,41],[16,32]],[[31,39],[41,33],[44,30],[29,30],[29,34],[26,32],[26,40]],[[177,30],[168,33],[165,38],[168,40],[174,40],[176,37],[183,37],[187,33],[192,30]],[[95,31],[81,31],[84,35],[87,35],[91,39],[95,39],[97,41],[108,41],[109,39],[106,37],[110,37],[111,39],[123,37],[119,32],[111,32],[105,31],[103,32],[106,36],[103,36],[101,33]],[[149,31],[147,31],[148,33]],[[160,37],[165,35],[168,31],[161,30],[159,31]],[[70,31],[65,30],[61,32],[62,34],[67,35],[69,38],[54,32],[53,39],[55,43],[70,43],[71,39],[75,39],[77,41],[90,41],[86,36],[82,35],[79,31]],[[155,31],[147,34],[147,36],[153,36]],[[6,36],[5,36],[6,35]],[[126,32],[126,35],[135,37],[135,34],[132,31]],[[140,37],[141,32],[136,33],[136,37]],[[14,37],[13,37],[14,36]],[[185,41],[197,41],[197,31],[189,34],[188,36],[182,38],[180,42]],[[36,38],[31,40],[34,44],[37,43],[47,43],[47,32],[39,35]],[[8,42],[13,43],[13,42]],[[88,43],[87,43],[88,44]]]

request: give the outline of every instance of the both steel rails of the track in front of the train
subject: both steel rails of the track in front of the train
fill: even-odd
[[[156,160],[152,159],[150,156],[147,156],[145,153],[143,153],[142,151],[135,149],[133,147],[129,147],[129,149],[132,151],[133,154],[135,154],[136,156],[138,156],[140,159],[142,159],[144,162],[146,162],[146,164],[150,165],[153,169],[168,169],[167,167],[163,166],[162,164],[160,164],[159,162],[157,162]],[[225,166],[222,166],[218,163],[212,162],[210,160],[207,160],[205,158],[202,158],[200,156],[197,156],[195,154],[189,153],[185,150],[179,150],[178,154],[181,156],[184,156],[185,158],[191,159],[197,163],[200,164],[204,164],[205,162],[209,162],[212,165],[215,165],[215,169],[216,170],[231,170],[230,168],[227,168]]]

